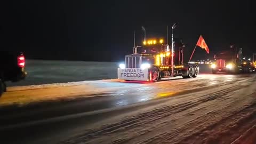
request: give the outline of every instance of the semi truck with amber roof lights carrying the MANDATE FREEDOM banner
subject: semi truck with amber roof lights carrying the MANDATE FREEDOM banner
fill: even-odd
[[[171,47],[163,38],[153,38],[143,41],[142,46],[134,46],[133,53],[125,55],[125,62],[119,65],[118,78],[125,81],[158,82],[175,76],[197,77],[198,65],[183,62],[182,39],[179,43]]]

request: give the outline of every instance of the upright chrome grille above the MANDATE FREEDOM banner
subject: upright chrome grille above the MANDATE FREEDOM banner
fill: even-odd
[[[141,57],[137,55],[129,55],[125,57],[125,68],[140,68]]]

